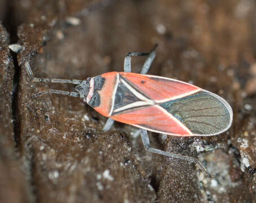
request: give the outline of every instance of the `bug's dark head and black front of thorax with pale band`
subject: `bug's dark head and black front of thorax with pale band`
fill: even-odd
[[[87,78],[80,85],[76,86],[76,91],[84,103],[88,103],[91,107],[98,107],[100,98],[98,90],[101,90],[105,82],[105,78],[96,76]]]

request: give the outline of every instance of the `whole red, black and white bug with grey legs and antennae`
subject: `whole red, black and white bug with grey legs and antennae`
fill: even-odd
[[[197,86],[147,75],[156,47],[148,53],[128,53],[124,59],[124,72],[103,73],[83,81],[37,78],[28,62],[25,62],[25,68],[34,82],[76,85],[74,92],[46,90],[33,96],[51,93],[80,97],[83,103],[109,117],[103,131],[110,130],[114,121],[136,126],[140,128],[147,151],[193,162],[211,178],[212,175],[196,158],[151,147],[147,130],[174,136],[218,135],[231,126],[232,108],[220,96]],[[131,56],[147,56],[140,74],[131,73]]]

